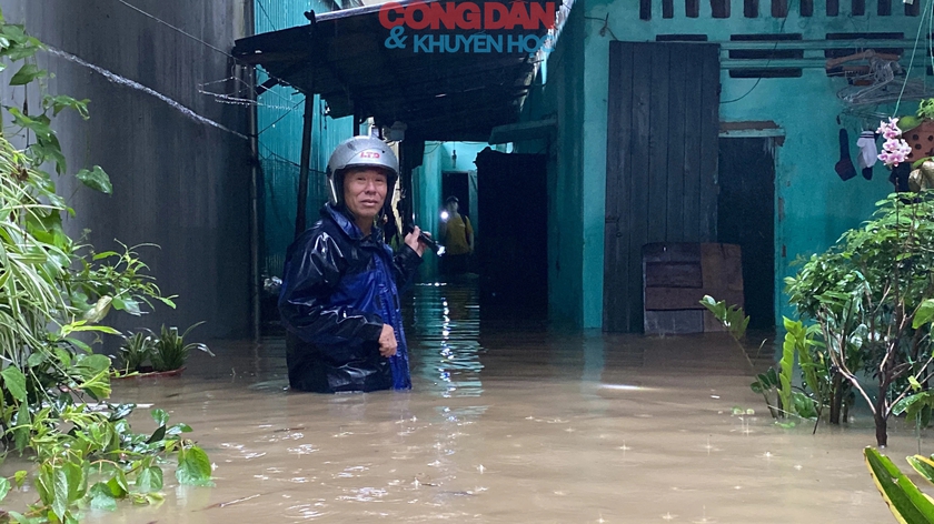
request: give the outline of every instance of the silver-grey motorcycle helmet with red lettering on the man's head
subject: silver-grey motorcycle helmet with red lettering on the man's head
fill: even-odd
[[[331,205],[344,205],[344,173],[352,168],[379,168],[387,172],[386,198],[393,195],[399,179],[399,160],[389,144],[374,137],[354,137],[338,145],[328,160],[328,201]]]

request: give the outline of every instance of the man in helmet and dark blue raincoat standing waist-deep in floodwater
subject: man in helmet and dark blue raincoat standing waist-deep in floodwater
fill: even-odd
[[[327,177],[321,219],[289,246],[282,271],[289,385],[319,393],[408,390],[399,294],[425,245],[418,226],[395,255],[384,241],[398,160],[381,140],[355,137],[331,153]]]

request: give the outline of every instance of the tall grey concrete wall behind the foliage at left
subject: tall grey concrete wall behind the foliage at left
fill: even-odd
[[[222,50],[251,31],[241,0],[133,2],[166,22]],[[113,0],[0,0],[8,21],[67,53],[177,101],[200,117],[244,135],[244,105],[219,103],[199,84],[231,77],[231,62],[179,32]],[[116,314],[118,329],[161,323],[187,328],[206,320],[193,337],[240,337],[249,333],[249,142],[232,132],[189,118],[159,98],[111,82],[99,72],[42,52],[39,66],[54,74],[52,93],[90,99],[91,119],[56,119],[69,171],[101,165],[113,195],[60,179],[77,218],[71,234],[90,229],[100,251],[140,248],[165,294],[178,294],[178,309],[157,306],[142,319]],[[6,87],[3,103],[22,107],[22,88]],[[223,92],[232,82],[210,85]],[[29,103],[38,105],[36,93]]]

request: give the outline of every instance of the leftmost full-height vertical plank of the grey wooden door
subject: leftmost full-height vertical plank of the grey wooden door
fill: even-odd
[[[633,44],[610,42],[607,99],[607,181],[604,248],[604,330],[626,331],[632,316],[629,294],[628,218],[633,112]]]

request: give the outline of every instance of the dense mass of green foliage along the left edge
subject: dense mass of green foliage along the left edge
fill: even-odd
[[[18,67],[11,85],[34,84],[44,93],[48,74],[33,58],[40,49],[23,27],[0,14],[0,66]],[[53,165],[58,175],[70,171],[50,123],[63,110],[87,119],[88,101],[40,100],[32,112],[4,105],[10,119],[0,135],[0,444],[3,456],[19,453],[36,462],[34,471],[0,478],[0,500],[27,483],[38,496],[22,513],[0,516],[74,523],[83,505],[158,502],[167,458],[178,458],[176,477],[183,484],[209,484],[211,467],[203,451],[182,437],[190,427],[168,425],[165,412],[152,413],[155,433],[137,434],[128,422],[133,406],[101,403],[110,395],[110,360],[93,354],[78,334],[119,334],[101,323],[115,309],[139,315],[141,304],[175,304],[131,249],[96,253],[63,232],[62,214],[74,211],[42,167]],[[30,145],[18,149],[12,137]],[[74,177],[93,190],[112,190],[99,167]]]

